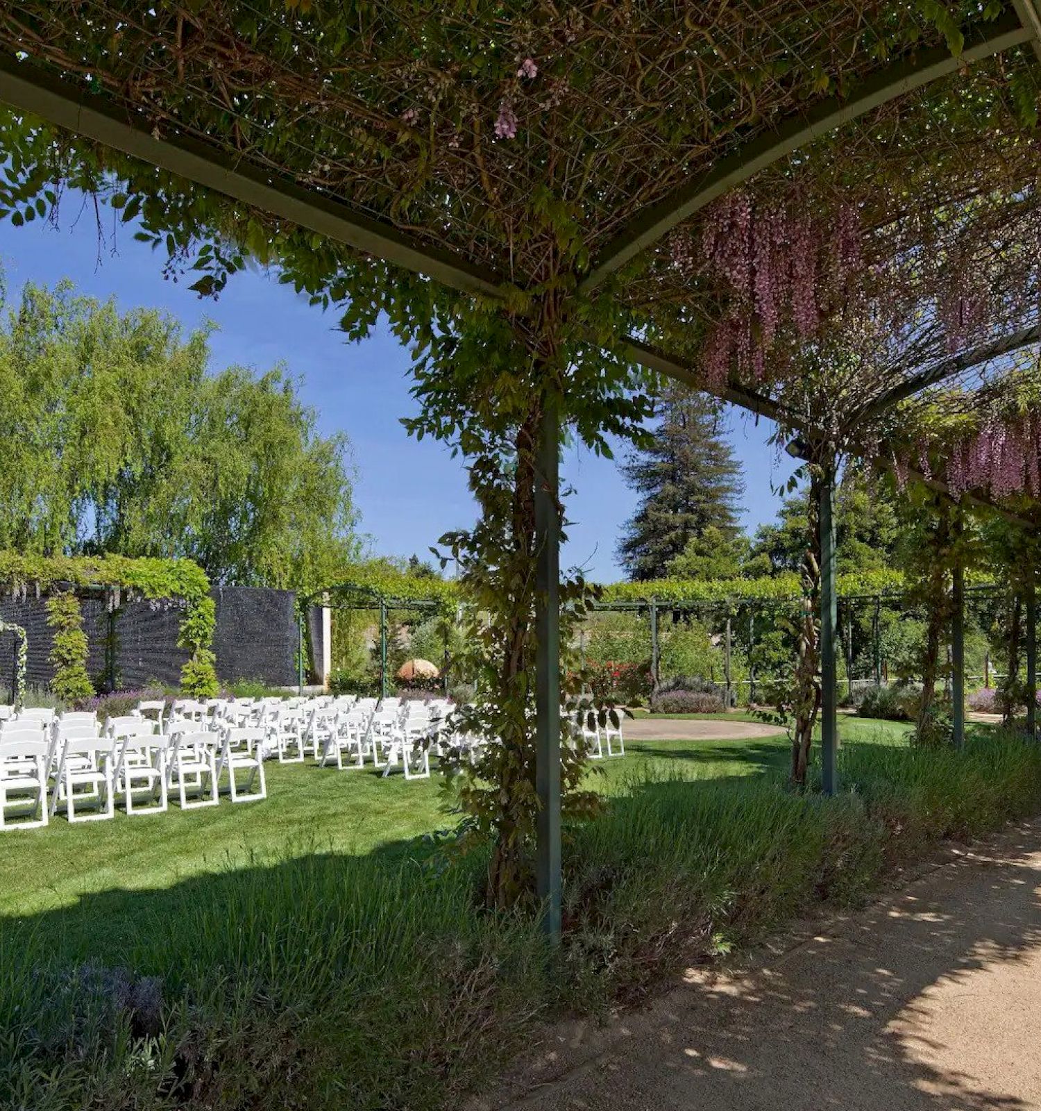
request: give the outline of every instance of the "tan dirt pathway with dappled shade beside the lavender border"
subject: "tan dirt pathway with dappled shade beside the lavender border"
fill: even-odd
[[[1041,820],[869,910],[570,1025],[484,1109],[1041,1109]]]

